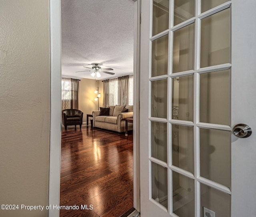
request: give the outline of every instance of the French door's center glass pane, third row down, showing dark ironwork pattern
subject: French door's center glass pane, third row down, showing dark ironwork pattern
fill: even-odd
[[[193,76],[172,79],[172,119],[193,121]]]

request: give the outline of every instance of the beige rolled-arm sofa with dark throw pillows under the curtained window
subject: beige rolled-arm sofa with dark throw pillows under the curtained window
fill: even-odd
[[[125,119],[133,117],[133,106],[107,106],[98,111],[92,111],[93,127],[108,129],[119,133],[125,132]],[[133,124],[128,123],[128,130],[133,129]]]

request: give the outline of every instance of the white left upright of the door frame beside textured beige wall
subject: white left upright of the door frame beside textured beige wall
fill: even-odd
[[[61,150],[61,1],[50,0],[50,154],[48,205],[60,204]],[[49,209],[49,217],[58,217]]]

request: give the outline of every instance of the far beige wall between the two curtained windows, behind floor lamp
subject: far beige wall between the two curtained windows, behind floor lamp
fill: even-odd
[[[92,79],[81,78],[79,82],[79,110],[84,112],[83,122],[86,122],[86,114],[92,114],[92,111],[98,110],[98,102],[94,99],[97,94],[94,93],[99,87],[101,95],[99,106],[103,105],[103,82]]]

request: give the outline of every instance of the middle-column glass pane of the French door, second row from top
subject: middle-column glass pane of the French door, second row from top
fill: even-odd
[[[173,33],[172,73],[194,69],[194,23]]]

